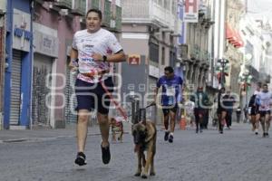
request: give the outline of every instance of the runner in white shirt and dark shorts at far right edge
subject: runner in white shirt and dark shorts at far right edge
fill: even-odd
[[[270,127],[270,105],[272,100],[272,93],[268,91],[267,84],[263,85],[263,90],[257,94],[257,105],[259,105],[259,114],[262,129],[264,131],[263,137],[269,137],[268,130]]]

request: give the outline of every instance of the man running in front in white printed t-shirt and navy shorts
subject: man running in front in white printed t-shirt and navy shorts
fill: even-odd
[[[84,154],[90,111],[97,110],[97,119],[102,134],[102,162],[111,160],[109,143],[109,96],[105,96],[104,87],[112,92],[111,63],[124,62],[125,54],[116,37],[101,28],[102,12],[90,9],[86,14],[87,29],[78,31],[73,36],[70,67],[78,65],[79,74],[75,82],[77,98],[77,157],[79,166],[86,165]]]

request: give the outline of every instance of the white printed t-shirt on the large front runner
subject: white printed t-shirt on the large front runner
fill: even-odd
[[[91,83],[104,80],[106,76],[103,76],[102,79],[100,77],[92,79],[82,73],[112,72],[112,65],[109,62],[94,62],[92,54],[109,55],[122,50],[114,34],[102,28],[96,33],[88,33],[87,30],[74,33],[72,47],[78,51],[79,74],[77,78]]]

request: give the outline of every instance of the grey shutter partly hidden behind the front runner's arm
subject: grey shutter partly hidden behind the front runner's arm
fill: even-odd
[[[74,95],[74,82],[76,76],[70,71],[69,61],[66,66],[66,86],[65,86],[65,122],[66,123],[75,123],[77,116],[75,114],[75,107],[77,105],[76,97]]]

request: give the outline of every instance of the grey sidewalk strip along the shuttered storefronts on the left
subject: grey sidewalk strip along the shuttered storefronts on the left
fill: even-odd
[[[124,133],[131,132],[131,125],[124,123]],[[88,128],[88,136],[100,135],[99,126]],[[111,130],[110,130],[111,134]],[[0,143],[23,142],[23,141],[43,141],[56,138],[75,138],[75,125],[68,126],[67,129],[26,129],[26,130],[0,130]]]

